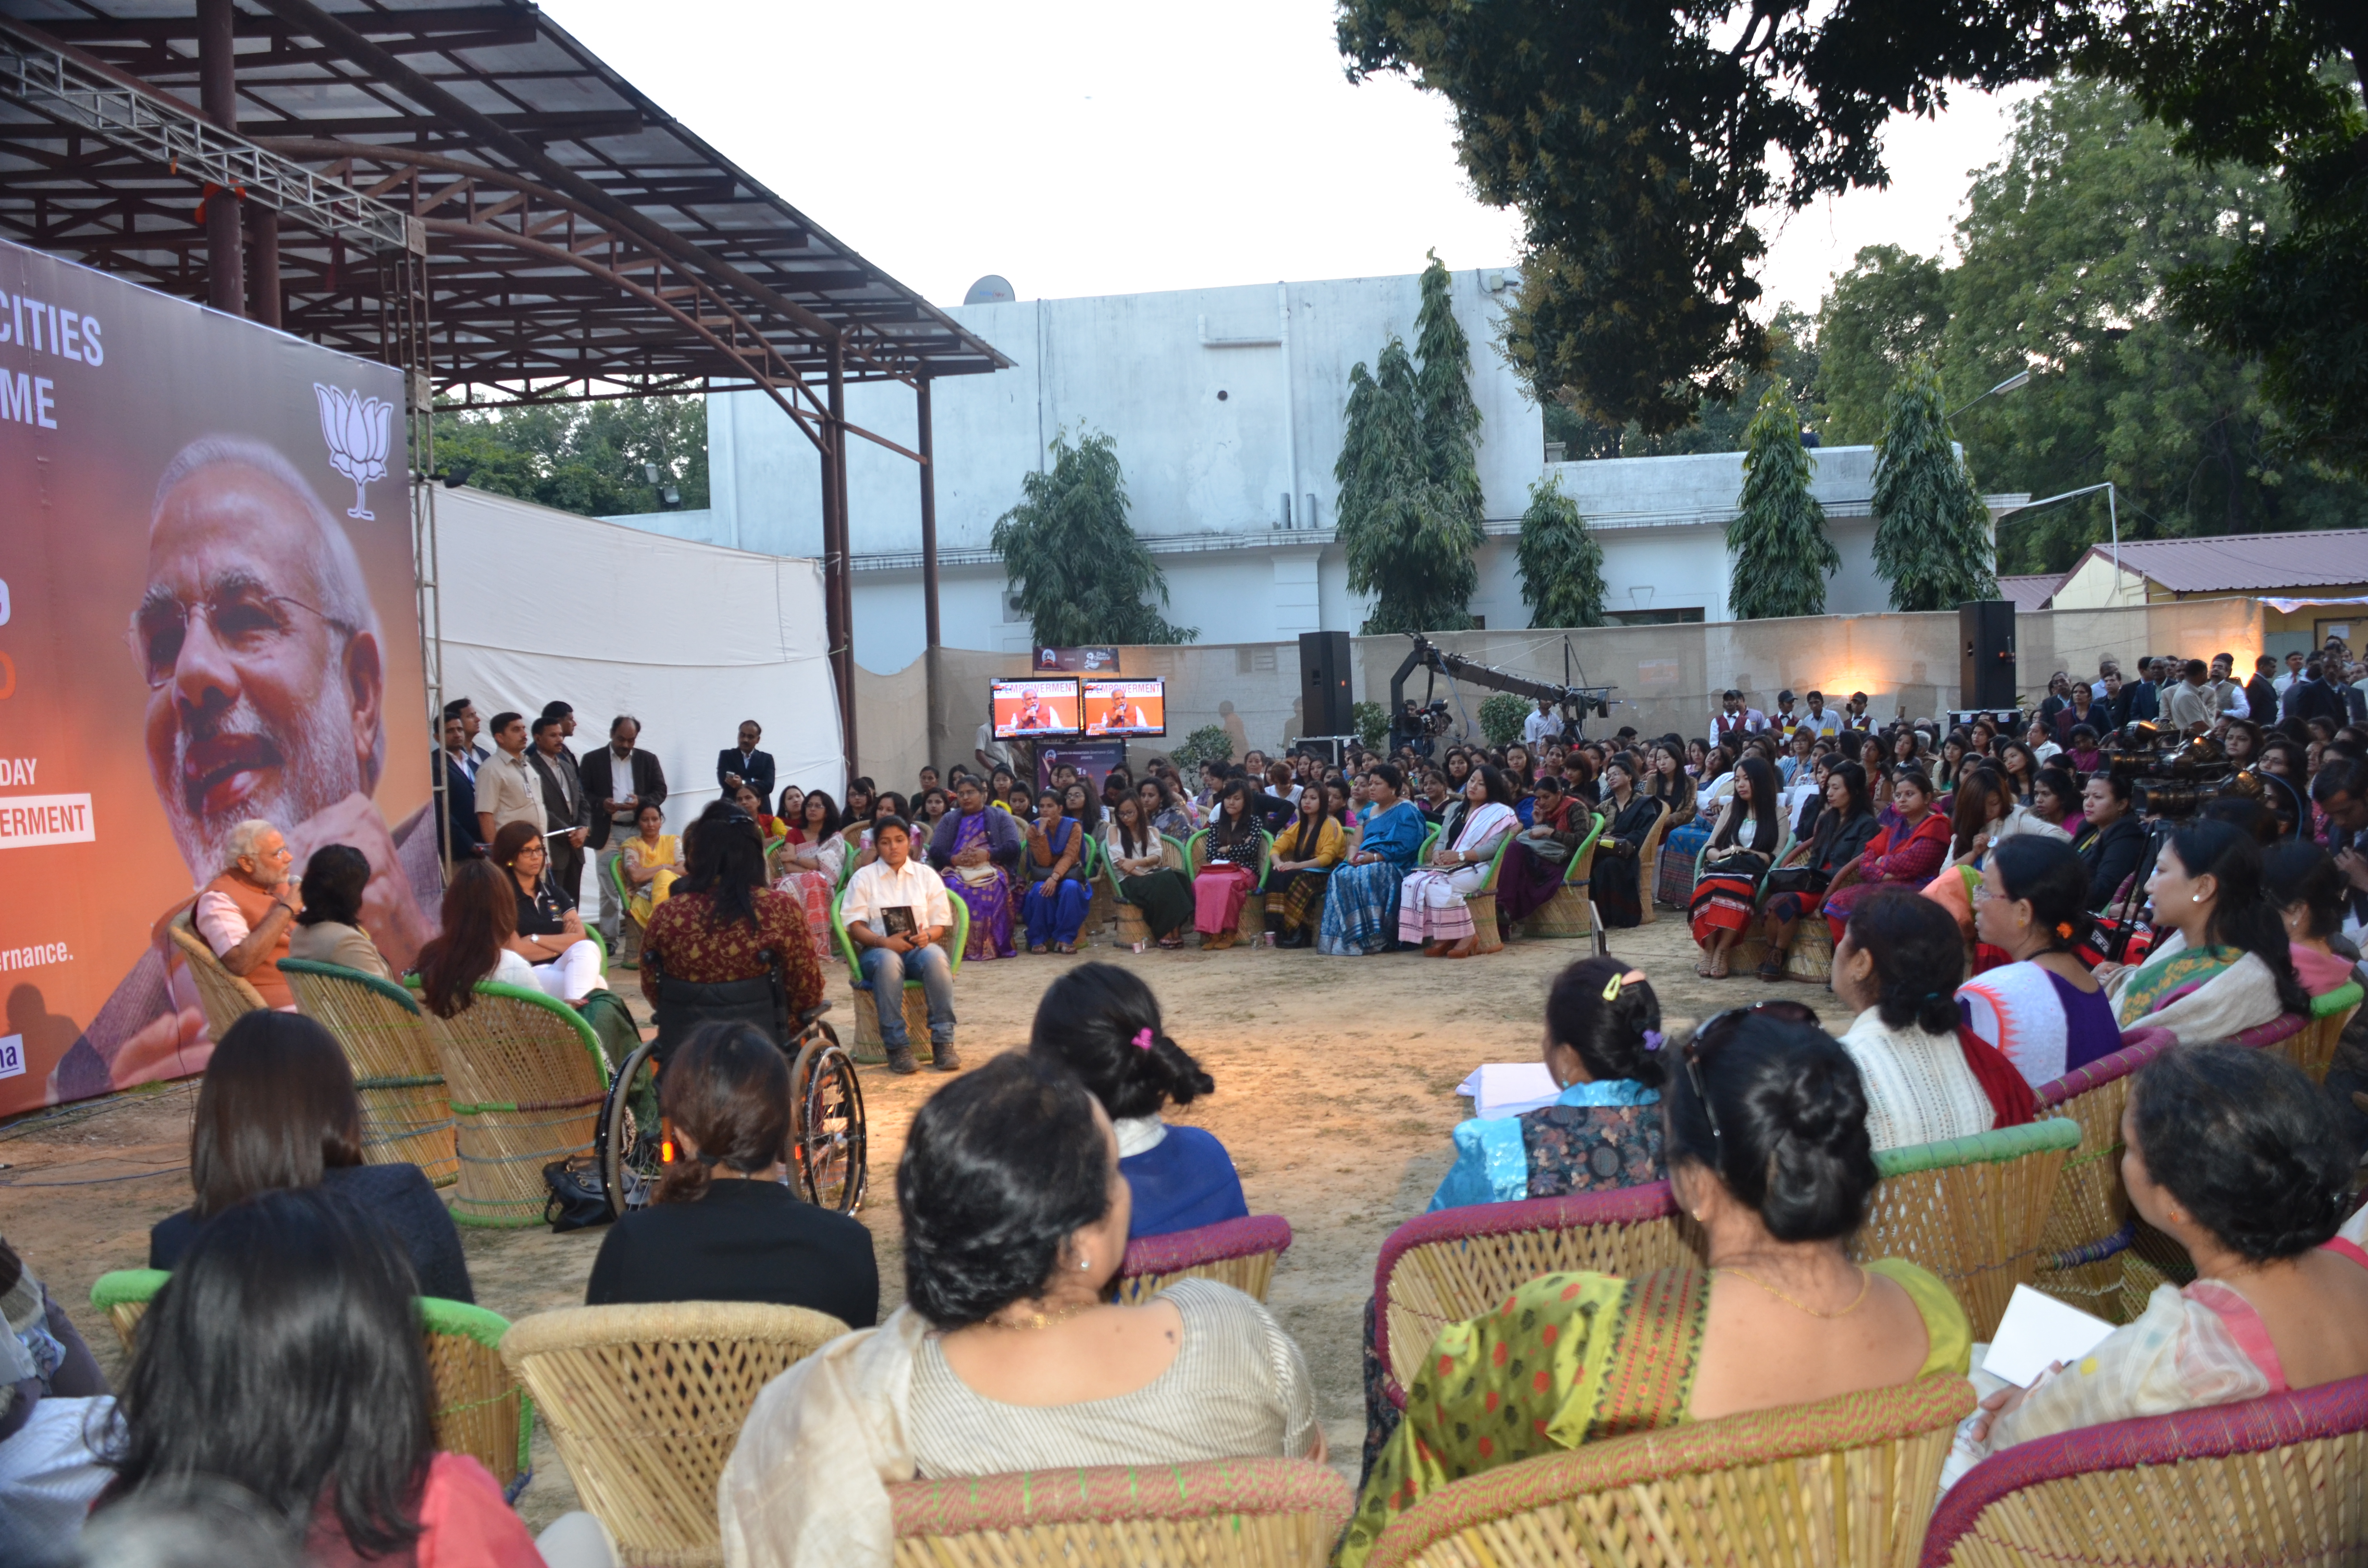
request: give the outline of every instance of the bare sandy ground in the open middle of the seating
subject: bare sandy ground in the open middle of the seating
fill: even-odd
[[[1821,1016],[1835,1011],[1823,988],[1695,978],[1684,919],[1667,910],[1653,926],[1615,931],[1610,945],[1655,981],[1669,1023],[1774,990]],[[971,1063],[1025,1045],[1037,997],[1066,964],[1115,959],[1153,983],[1167,1030],[1217,1080],[1210,1099],[1175,1120],[1224,1139],[1250,1213],[1291,1220],[1295,1241],[1269,1305],[1307,1355],[1333,1464],[1354,1473],[1364,1435],[1357,1336],[1373,1258],[1390,1229],[1423,1210],[1447,1170],[1447,1132],[1468,1113],[1454,1087],[1482,1061],[1537,1054],[1546,985],[1587,952],[1575,940],[1525,940],[1466,962],[1253,947],[1132,955],[1094,945],[1075,959],[964,966],[959,1045]],[[635,976],[618,971],[611,981],[639,1004]],[[829,995],[834,1023],[852,1040],[845,971],[834,969]],[[928,1071],[864,1071],[871,1196],[862,1220],[879,1239],[883,1310],[902,1298],[895,1163],[914,1108],[940,1082]],[[109,1371],[121,1352],[90,1310],[90,1281],[144,1265],[149,1225],[187,1206],[194,1099],[192,1085],[170,1085],[0,1125],[0,1234],[69,1305]],[[511,1319],[580,1303],[601,1234],[462,1232],[478,1303]],[[575,1506],[542,1431],[519,1506],[538,1528]]]

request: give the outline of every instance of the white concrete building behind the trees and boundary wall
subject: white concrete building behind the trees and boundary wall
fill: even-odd
[[[1530,486],[1551,471],[1603,540],[1615,618],[1724,621],[1722,531],[1743,488],[1740,452],[1546,464],[1539,410],[1494,351],[1513,282],[1511,270],[1454,275],[1489,533],[1473,613],[1489,628],[1527,625],[1513,535]],[[1350,367],[1378,360],[1392,334],[1411,351],[1418,306],[1421,279],[1404,275],[952,308],[1016,365],[933,388],[947,647],[1028,647],[987,540],[1061,431],[1115,438],[1134,531],[1167,573],[1170,621],[1198,628],[1203,642],[1354,632],[1366,602],[1350,595],[1333,542]],[[914,443],[914,398],[900,384],[850,386],[848,419]],[[1814,490],[1842,552],[1828,611],[1887,606],[1871,559],[1871,448],[1816,452]],[[708,398],[708,474],[710,509],[613,521],[734,550],[822,552],[815,448],[765,396]],[[924,642],[909,460],[850,443],[848,528],[855,658],[900,670]]]

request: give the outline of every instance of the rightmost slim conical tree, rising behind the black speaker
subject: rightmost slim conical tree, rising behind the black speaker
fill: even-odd
[[[1989,509],[1949,441],[1939,369],[1918,358],[1875,445],[1875,576],[1892,609],[1951,609],[1999,595],[1989,557]]]

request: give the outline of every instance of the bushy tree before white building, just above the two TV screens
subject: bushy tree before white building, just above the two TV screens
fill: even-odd
[[[1151,604],[1167,604],[1167,573],[1127,521],[1118,445],[1101,431],[1054,436],[1051,469],[1021,476],[1021,505],[995,519],[990,542],[1040,647],[1201,635]]]

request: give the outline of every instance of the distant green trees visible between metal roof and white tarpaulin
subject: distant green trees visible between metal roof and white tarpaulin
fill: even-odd
[[[658,464],[658,483],[649,483]],[[528,403],[436,415],[436,467],[448,478],[583,516],[708,505],[706,398]]]

